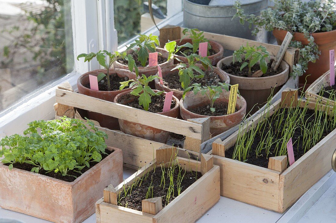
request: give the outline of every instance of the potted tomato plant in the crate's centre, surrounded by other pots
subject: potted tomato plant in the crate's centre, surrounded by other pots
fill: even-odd
[[[186,56],[186,55],[185,55]],[[230,78],[221,69],[212,67],[207,57],[197,54],[186,56],[188,63],[171,65],[162,69],[163,84],[155,79],[155,88],[160,91],[173,91],[176,98],[181,99],[184,89],[194,83],[202,85],[217,85],[217,83],[230,83]],[[201,61],[201,64],[197,63]]]

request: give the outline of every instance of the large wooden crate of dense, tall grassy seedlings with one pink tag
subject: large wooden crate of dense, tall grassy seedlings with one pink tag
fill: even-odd
[[[213,143],[221,196],[284,212],[331,169],[334,115],[333,106],[298,99],[298,90],[282,92],[281,100]],[[290,138],[295,162],[289,166]]]

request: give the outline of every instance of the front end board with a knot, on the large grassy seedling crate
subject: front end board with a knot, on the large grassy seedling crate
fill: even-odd
[[[214,155],[220,168],[220,195],[278,210],[279,172]]]

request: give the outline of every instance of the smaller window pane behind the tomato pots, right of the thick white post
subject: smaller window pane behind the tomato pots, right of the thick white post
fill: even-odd
[[[119,45],[131,39],[135,33],[144,32],[154,26],[148,6],[143,2],[148,1],[114,0],[114,24],[118,31]],[[153,4],[159,7],[153,13],[158,23],[167,17],[167,0],[153,0]]]

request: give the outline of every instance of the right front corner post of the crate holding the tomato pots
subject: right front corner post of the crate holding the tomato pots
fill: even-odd
[[[201,152],[201,144],[210,138],[210,118],[192,118],[187,121],[194,122],[202,125],[201,139],[185,137],[183,148],[195,152]],[[192,127],[191,127],[192,128]],[[195,130],[192,129],[194,132]]]

